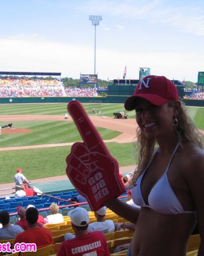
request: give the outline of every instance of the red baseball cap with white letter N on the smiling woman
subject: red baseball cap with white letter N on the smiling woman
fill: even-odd
[[[164,76],[144,77],[136,86],[134,94],[126,100],[125,109],[135,109],[138,97],[149,100],[156,106],[161,106],[171,100],[179,100],[176,86]]]

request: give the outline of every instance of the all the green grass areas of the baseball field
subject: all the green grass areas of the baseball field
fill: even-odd
[[[88,112],[89,104],[83,104]],[[0,115],[62,115],[67,112],[67,104],[0,104]],[[124,109],[123,104],[101,104],[103,116],[112,116],[113,112]],[[187,107],[191,118],[199,129],[204,130],[204,108]],[[128,111],[129,118],[135,118],[135,111]],[[10,121],[12,122],[12,120]],[[8,122],[5,122],[6,124]],[[3,125],[3,124],[0,124]],[[81,141],[80,135],[72,122],[64,121],[24,121],[15,122],[20,128],[29,128],[28,134],[5,134],[0,140],[0,147],[15,147],[23,145],[40,145],[52,143],[67,143]],[[118,136],[120,132],[97,127],[103,140]],[[113,157],[119,161],[119,166],[135,164],[135,153],[132,143],[106,143]],[[64,175],[66,172],[66,156],[71,147],[36,148],[28,150],[11,150],[1,152],[0,183],[13,181],[17,168],[25,170],[28,179],[39,179]]]

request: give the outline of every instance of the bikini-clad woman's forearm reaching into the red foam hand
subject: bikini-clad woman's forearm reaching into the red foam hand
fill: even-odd
[[[117,213],[120,217],[135,223],[138,220],[140,214],[140,208],[133,207],[125,202],[122,202],[118,198],[112,198],[105,202],[106,207]]]

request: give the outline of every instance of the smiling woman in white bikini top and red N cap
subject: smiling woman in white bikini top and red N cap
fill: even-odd
[[[106,206],[136,223],[128,255],[184,256],[198,221],[204,255],[204,152],[201,136],[166,77],[147,76],[125,102],[136,111],[138,169],[132,197],[141,209],[118,199]]]

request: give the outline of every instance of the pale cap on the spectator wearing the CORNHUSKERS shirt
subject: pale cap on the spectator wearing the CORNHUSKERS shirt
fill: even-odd
[[[89,224],[89,213],[82,207],[77,207],[68,212],[71,222],[77,227],[85,227]]]

